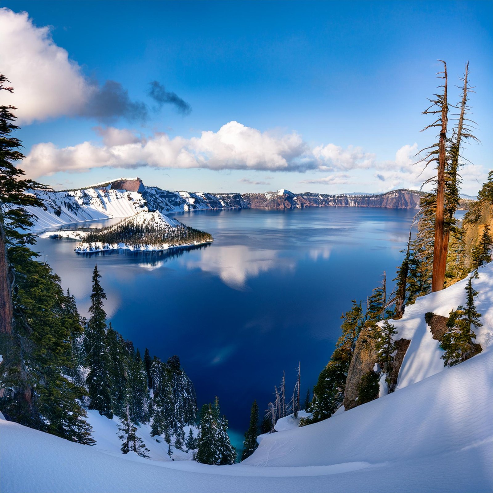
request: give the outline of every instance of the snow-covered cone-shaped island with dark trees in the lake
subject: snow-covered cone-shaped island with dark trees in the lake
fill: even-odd
[[[169,248],[200,246],[212,243],[209,233],[185,226],[159,211],[141,211],[120,222],[104,227],[45,232],[44,238],[79,240],[77,253],[126,249],[164,251]]]

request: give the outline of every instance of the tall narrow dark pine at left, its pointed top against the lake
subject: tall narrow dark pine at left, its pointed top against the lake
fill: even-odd
[[[111,361],[106,346],[106,312],[103,308],[103,300],[106,294],[99,279],[98,266],[94,267],[91,293],[91,317],[87,324],[84,338],[86,361],[89,367],[86,384],[89,391],[89,409],[96,409],[103,416],[113,418],[113,406],[111,402]]]

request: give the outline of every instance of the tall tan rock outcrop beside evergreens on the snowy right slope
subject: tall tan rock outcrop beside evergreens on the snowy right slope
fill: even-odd
[[[372,329],[365,327],[361,330],[356,347],[349,365],[346,389],[344,390],[344,408],[346,410],[358,406],[361,402],[357,401],[359,385],[363,375],[373,371],[373,367],[378,360],[375,349],[375,340],[371,337]]]

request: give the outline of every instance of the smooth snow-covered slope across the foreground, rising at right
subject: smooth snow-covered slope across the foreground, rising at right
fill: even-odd
[[[483,314],[484,325],[478,330],[483,352],[444,368],[438,342],[430,340],[423,325],[425,312],[448,315],[463,302],[464,283],[423,297],[395,322],[398,336],[412,339],[397,391],[320,423],[281,426],[284,431],[264,437],[241,464],[170,462],[163,460],[162,451],[154,456],[158,460],[123,456],[114,444],[77,445],[0,419],[0,489],[491,492],[493,266],[480,269],[474,280]],[[98,435],[101,441],[103,431]]]

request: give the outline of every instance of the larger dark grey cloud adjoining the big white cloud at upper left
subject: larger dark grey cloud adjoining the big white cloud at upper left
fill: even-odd
[[[80,116],[93,117],[104,123],[110,123],[116,118],[130,121],[147,119],[147,105],[141,101],[132,101],[128,91],[119,82],[107,80],[103,86],[94,84],[92,87],[92,97],[81,109]]]

